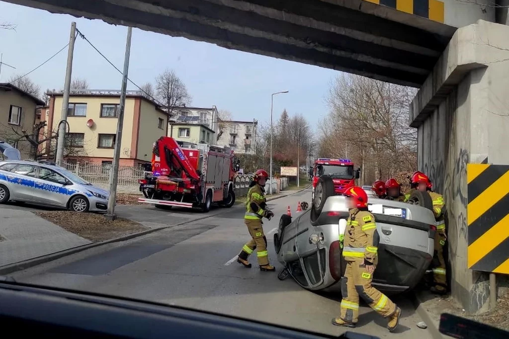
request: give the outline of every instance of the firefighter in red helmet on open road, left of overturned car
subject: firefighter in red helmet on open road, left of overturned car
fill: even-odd
[[[250,268],[251,264],[247,261],[249,255],[256,249],[258,264],[262,271],[275,271],[275,267],[269,265],[269,254],[267,252],[267,238],[263,233],[262,218],[270,220],[274,213],[267,209],[265,200],[265,181],[268,179],[269,173],[263,169],[259,169],[254,173],[253,180],[249,185],[247,192],[246,213],[244,214],[244,223],[251,235],[249,240],[240,251],[237,262],[244,267]]]

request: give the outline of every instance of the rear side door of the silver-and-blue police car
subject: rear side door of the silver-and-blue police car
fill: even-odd
[[[19,164],[10,173],[6,173],[7,181],[12,187],[11,199],[33,201],[36,176],[37,166],[29,164]]]

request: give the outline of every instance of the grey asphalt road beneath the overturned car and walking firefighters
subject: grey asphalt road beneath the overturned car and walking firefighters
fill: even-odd
[[[272,244],[277,216],[286,213],[288,206],[295,215],[297,202],[309,200],[310,191],[306,190],[269,202],[276,218],[265,221],[264,230],[269,257],[277,270],[281,265],[275,260]],[[180,218],[183,212],[146,208],[143,213],[147,217],[136,218],[152,218],[151,222],[159,223]],[[243,214],[243,206],[223,209],[209,218],[99,246],[12,275],[20,282],[165,302],[331,335],[343,333],[345,328],[331,324],[339,312],[338,296],[304,290],[291,279],[279,281],[276,272],[258,269],[256,257],[250,258],[251,269],[235,262],[249,238]],[[154,215],[159,221],[153,220]],[[381,338],[431,338],[428,330],[416,327],[422,319],[406,296],[394,297],[393,301],[403,310],[395,333],[389,333],[386,320],[366,305],[361,305],[354,331]]]

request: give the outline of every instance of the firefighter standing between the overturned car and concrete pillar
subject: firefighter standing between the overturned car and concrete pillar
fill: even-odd
[[[441,194],[432,191],[433,184],[430,178],[422,173],[415,172],[411,178],[411,190],[405,195],[405,201],[408,201],[412,190],[428,192],[433,203],[433,213],[435,214],[436,232],[435,232],[435,252],[431,262],[433,270],[433,284],[431,291],[437,294],[445,294],[447,292],[447,279],[445,270],[445,259],[443,249],[447,235],[445,232],[445,204]]]

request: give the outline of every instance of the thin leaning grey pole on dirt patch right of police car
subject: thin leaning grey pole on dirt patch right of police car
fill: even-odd
[[[115,220],[115,201],[117,198],[117,181],[119,179],[119,161],[120,149],[122,143],[122,128],[124,126],[124,110],[126,105],[127,91],[127,73],[129,71],[129,56],[131,52],[132,27],[127,27],[126,52],[124,57],[124,74],[122,76],[122,89],[120,93],[120,112],[117,121],[117,136],[115,138],[115,150],[113,153],[113,163],[111,164],[111,173],[109,176],[109,199],[108,211],[105,215],[110,220]]]

